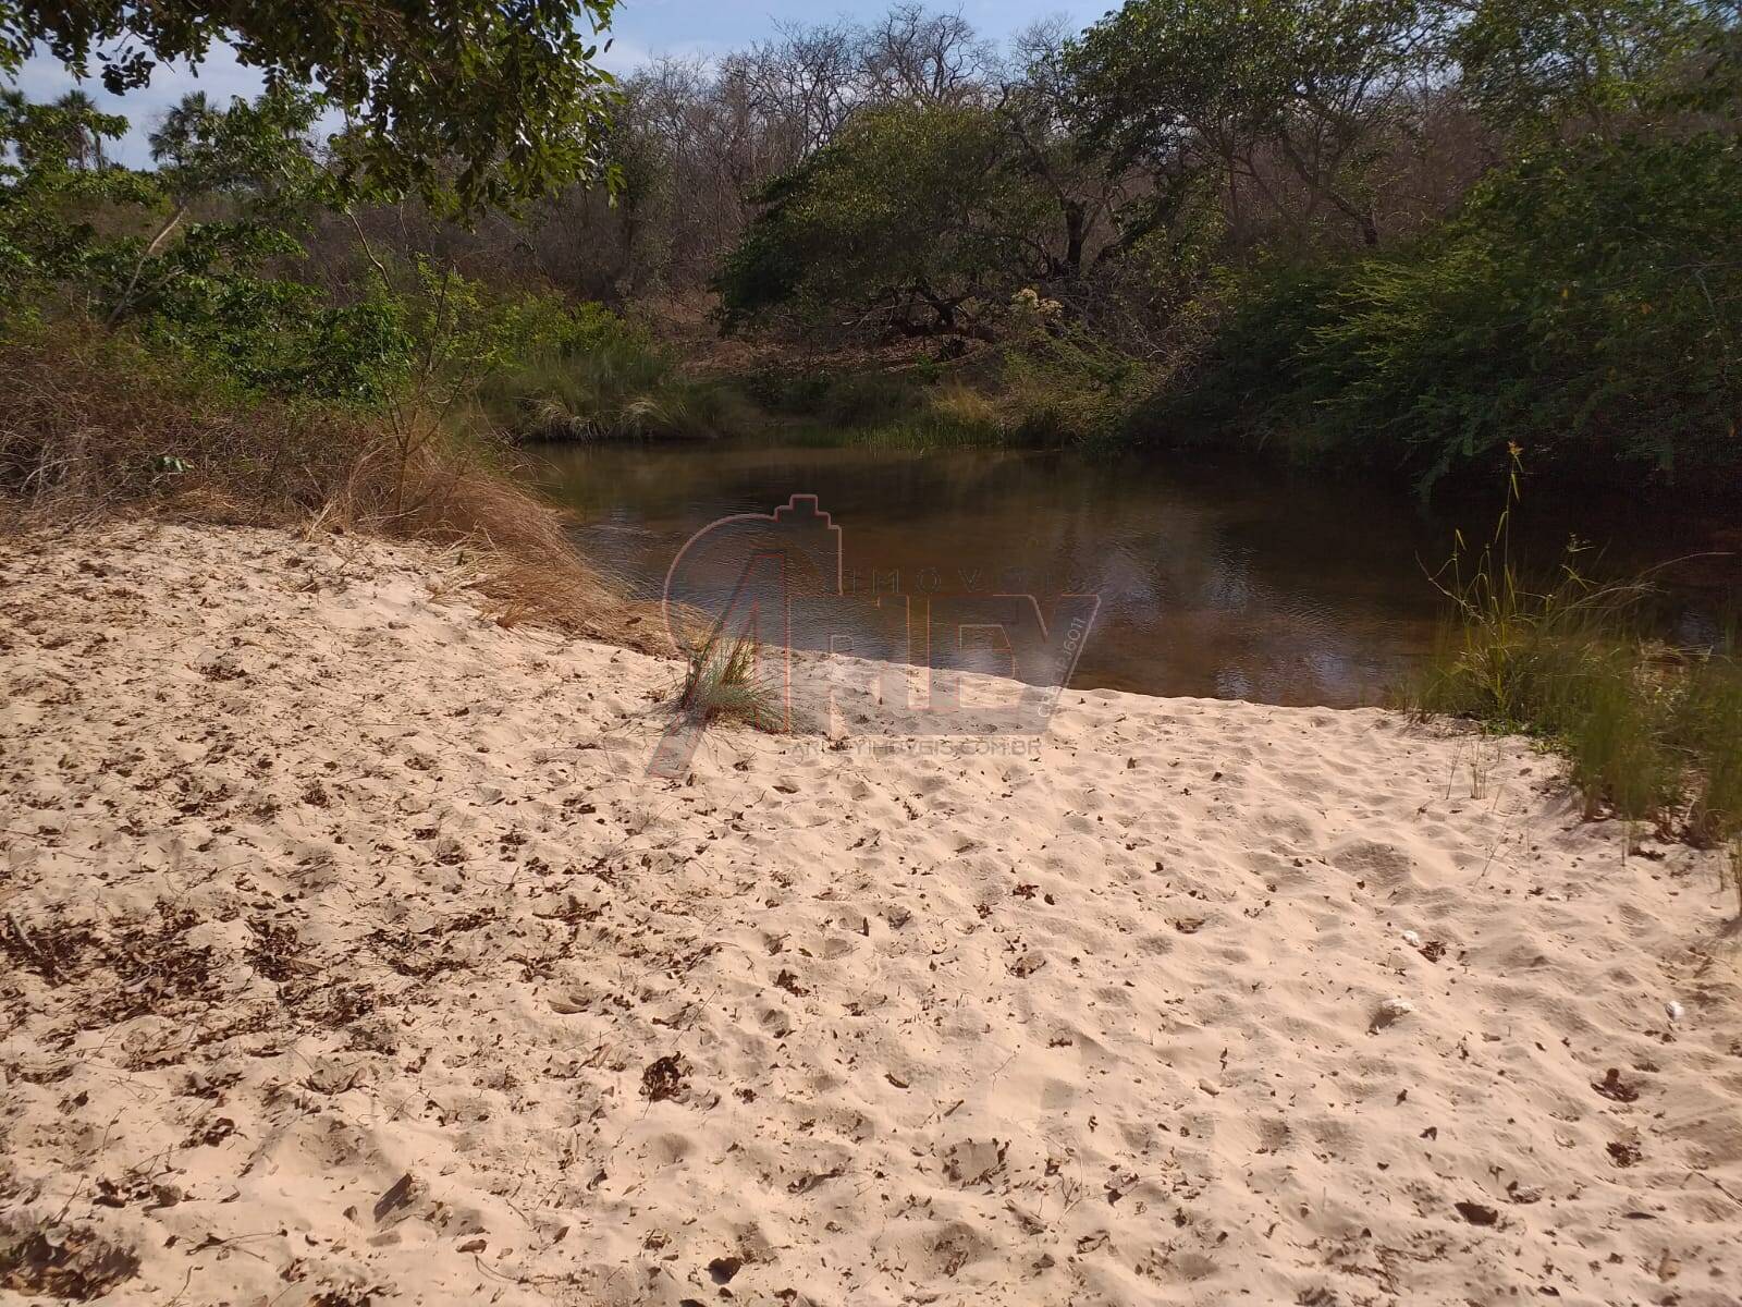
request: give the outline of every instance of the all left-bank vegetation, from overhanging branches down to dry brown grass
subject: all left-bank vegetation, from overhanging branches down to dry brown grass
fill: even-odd
[[[603,21],[610,3],[584,12]],[[0,14],[0,73],[40,42],[77,70],[96,61],[120,92],[153,59],[225,40],[280,75],[254,101],[186,96],[153,125],[146,169],[113,162],[127,122],[89,94],[0,96],[0,512],[49,528],[145,512],[425,540],[449,547],[451,575],[507,624],[660,648],[650,615],[582,563],[481,416],[512,403],[500,378],[516,368],[646,347],[596,305],[467,277],[362,221],[399,206],[477,221],[608,179],[598,146],[615,92],[575,17]],[[134,44],[117,63],[105,47],[122,35]],[[423,84],[413,70],[437,51],[481,82]],[[324,132],[334,119],[345,129]],[[334,232],[348,234],[343,254],[317,260]],[[599,364],[587,422],[629,410],[608,375]]]

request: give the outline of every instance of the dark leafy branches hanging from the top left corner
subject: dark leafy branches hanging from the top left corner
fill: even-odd
[[[592,173],[611,78],[594,33],[615,0],[371,5],[0,0],[0,73],[47,47],[75,75],[92,59],[115,94],[159,61],[199,64],[228,44],[270,87],[321,87],[352,131],[347,193],[422,193],[463,207],[545,193]]]

